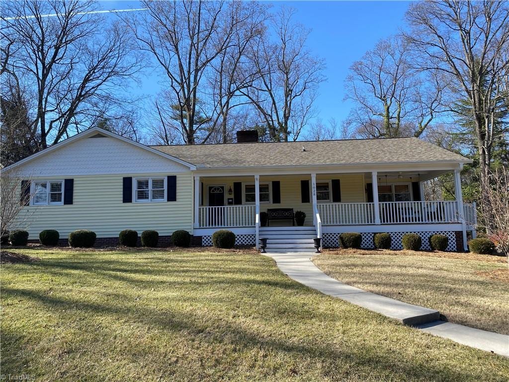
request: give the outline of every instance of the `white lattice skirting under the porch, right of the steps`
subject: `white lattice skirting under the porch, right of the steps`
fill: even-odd
[[[392,243],[390,249],[392,250],[401,250],[403,249],[403,244],[401,243],[401,239],[403,235],[407,233],[416,233],[420,235],[422,238],[422,248],[423,250],[431,250],[429,238],[431,235],[436,233],[445,235],[449,238],[449,244],[447,245],[447,251],[456,251],[456,234],[454,231],[437,231],[437,232],[389,232],[392,238]],[[339,235],[338,233],[324,233],[322,235],[322,245],[324,247],[339,247]],[[362,242],[360,244],[361,248],[373,248],[373,235],[374,233],[361,233]]]

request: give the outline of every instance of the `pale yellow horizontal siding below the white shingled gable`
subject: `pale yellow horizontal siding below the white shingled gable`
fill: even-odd
[[[60,237],[76,229],[90,229],[98,237],[118,236],[124,229],[141,234],[156,230],[169,235],[177,229],[192,230],[191,173],[178,173],[177,201],[155,203],[122,203],[123,176],[161,176],[172,174],[126,174],[75,176],[72,205],[25,207],[21,216],[29,216],[23,224],[30,239],[37,239],[44,229],[55,229]],[[62,177],[33,178],[51,180]]]

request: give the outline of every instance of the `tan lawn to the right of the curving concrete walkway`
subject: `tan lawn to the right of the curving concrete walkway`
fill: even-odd
[[[509,334],[505,257],[336,250],[325,251],[313,261],[327,275],[346,284],[436,309],[451,322]]]

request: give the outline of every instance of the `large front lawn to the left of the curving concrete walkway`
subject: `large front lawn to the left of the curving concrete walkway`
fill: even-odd
[[[37,381],[506,381],[506,359],[391,321],[239,252],[19,251],[2,374]]]

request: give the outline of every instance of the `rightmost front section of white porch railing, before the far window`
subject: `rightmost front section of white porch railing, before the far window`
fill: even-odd
[[[456,223],[459,221],[456,201],[380,203],[381,224]]]

